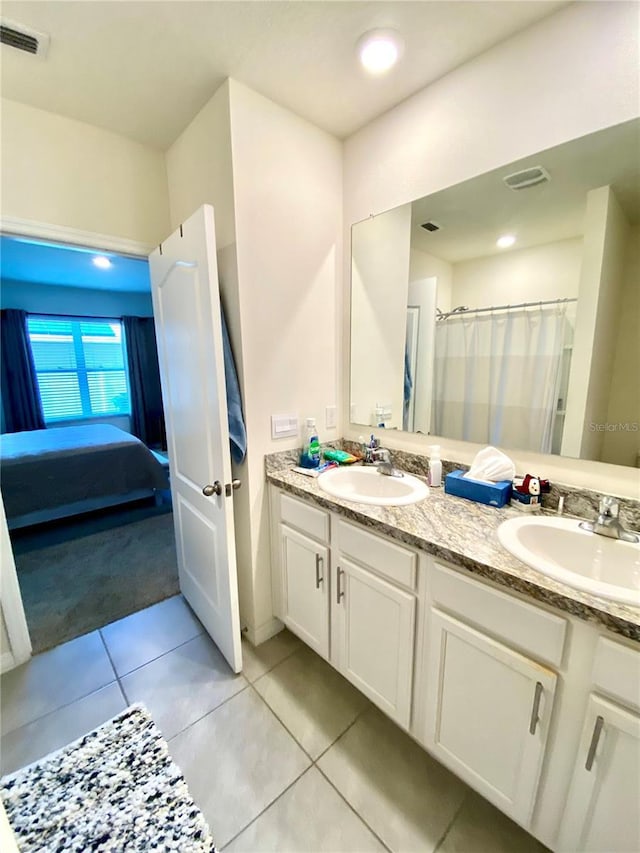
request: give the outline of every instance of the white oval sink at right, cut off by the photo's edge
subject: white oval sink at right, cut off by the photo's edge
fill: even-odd
[[[511,518],[498,539],[514,557],[593,595],[640,606],[640,544],[589,533],[568,518]]]

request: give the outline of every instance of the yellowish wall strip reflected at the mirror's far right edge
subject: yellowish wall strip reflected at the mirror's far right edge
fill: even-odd
[[[638,465],[640,459],[640,226],[629,229],[625,251],[624,281],[616,323],[615,360],[602,461]],[[617,424],[629,424],[628,429]]]

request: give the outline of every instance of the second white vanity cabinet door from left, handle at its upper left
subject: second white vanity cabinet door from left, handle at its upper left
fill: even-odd
[[[408,728],[415,596],[344,557],[335,580],[339,669],[372,702]]]

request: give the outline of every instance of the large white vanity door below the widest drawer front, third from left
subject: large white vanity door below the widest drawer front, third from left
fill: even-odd
[[[425,743],[526,826],[556,675],[435,608],[429,619]]]

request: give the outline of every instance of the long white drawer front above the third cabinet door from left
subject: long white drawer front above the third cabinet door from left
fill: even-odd
[[[560,665],[565,619],[437,563],[430,586],[432,601],[441,609],[535,658]]]

